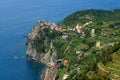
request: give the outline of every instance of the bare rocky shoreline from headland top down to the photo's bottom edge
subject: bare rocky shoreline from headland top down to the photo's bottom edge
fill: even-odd
[[[48,22],[48,21],[42,21],[42,20],[38,20],[37,24],[34,26],[34,28],[31,30],[31,32],[28,34],[28,36],[26,36],[27,42],[26,42],[26,46],[27,46],[27,51],[26,51],[26,55],[27,58],[31,61],[35,61],[38,63],[43,63],[46,66],[44,67],[42,74],[41,74],[41,80],[54,80],[54,76],[55,73],[57,71],[57,68],[59,67],[58,64],[56,63],[57,61],[55,60],[55,56],[56,56],[56,51],[53,47],[52,42],[50,43],[50,49],[46,52],[46,53],[42,53],[42,52],[37,52],[35,48],[33,48],[32,44],[33,44],[33,40],[37,37],[40,36],[39,34],[39,30],[43,30],[44,28],[50,28],[50,30],[56,30],[56,31],[60,31],[61,28],[58,27],[55,23],[52,22]],[[50,51],[53,51],[52,55],[50,55]],[[50,68],[53,64],[54,67]],[[59,64],[60,65],[60,64]],[[52,75],[50,75],[52,74]],[[50,79],[51,77],[51,79]]]

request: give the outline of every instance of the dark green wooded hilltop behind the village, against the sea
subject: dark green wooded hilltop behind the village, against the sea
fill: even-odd
[[[103,25],[104,22],[109,21],[119,21],[120,19],[120,10],[83,10],[77,11],[68,17],[66,17],[63,21],[59,23],[62,27],[74,27],[78,23],[85,24],[88,21],[93,21],[97,25]]]

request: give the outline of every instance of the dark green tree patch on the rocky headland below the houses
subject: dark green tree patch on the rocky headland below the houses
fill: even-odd
[[[50,42],[61,35],[61,32],[51,31],[50,28],[41,29],[39,36],[32,41],[32,46],[38,53],[45,53],[50,49]]]

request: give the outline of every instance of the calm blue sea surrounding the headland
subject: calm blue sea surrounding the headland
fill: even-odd
[[[0,80],[39,80],[44,65],[27,60],[24,38],[37,20],[58,23],[77,10],[115,8],[120,0],[0,0]]]

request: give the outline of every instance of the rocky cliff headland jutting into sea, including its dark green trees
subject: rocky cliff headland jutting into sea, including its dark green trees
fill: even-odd
[[[30,60],[41,62],[46,65],[54,63],[53,57],[56,56],[56,51],[52,47],[53,43],[52,33],[53,30],[59,31],[60,28],[52,22],[39,20],[31,32],[27,36],[27,57]],[[54,51],[54,52],[53,52]]]

